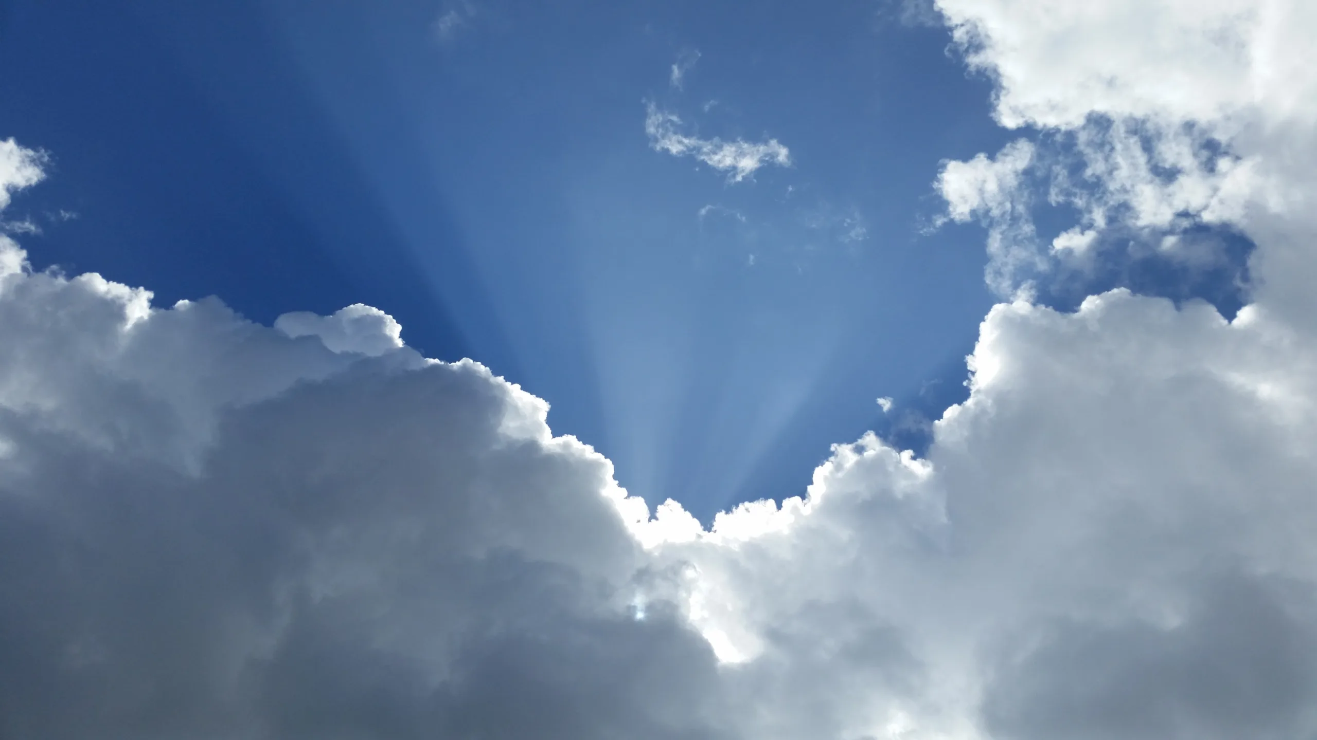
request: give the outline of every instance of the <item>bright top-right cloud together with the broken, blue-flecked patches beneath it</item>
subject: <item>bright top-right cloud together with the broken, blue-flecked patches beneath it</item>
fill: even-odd
[[[1112,219],[1179,230],[1230,224],[1272,238],[1254,259],[1274,309],[1317,315],[1296,275],[1317,232],[1317,71],[1305,65],[1317,9],[1301,0],[939,0],[971,63],[1000,82],[996,115],[1043,129],[1056,203],[1084,229]],[[1064,162],[1063,162],[1064,163]],[[1277,232],[1274,219],[1284,221]],[[1308,237],[1304,237],[1308,238]],[[1303,241],[1303,240],[1300,240]],[[1071,254],[1063,251],[1062,254]],[[990,267],[992,270],[993,267]],[[998,270],[1008,274],[1010,270]],[[1006,282],[1010,282],[1009,279]],[[1281,298],[1284,294],[1284,298]]]

